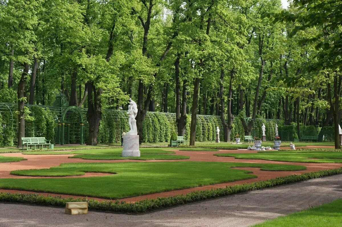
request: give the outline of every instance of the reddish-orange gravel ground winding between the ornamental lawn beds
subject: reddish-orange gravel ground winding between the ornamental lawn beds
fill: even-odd
[[[56,151],[58,152],[58,151]],[[179,151],[175,150],[175,155],[186,155],[190,156],[190,159],[183,160],[86,160],[86,159],[71,159],[68,158],[73,155],[24,155],[22,153],[2,153],[3,156],[13,156],[13,157],[23,157],[27,160],[20,162],[2,162],[0,163],[0,178],[28,178],[27,176],[15,176],[11,175],[10,171],[13,170],[22,170],[22,169],[43,169],[50,168],[52,166],[58,166],[61,163],[70,163],[70,162],[164,162],[164,161],[220,161],[220,162],[247,162],[247,163],[274,163],[274,164],[294,164],[294,165],[304,165],[307,167],[306,170],[303,171],[261,171],[259,168],[237,168],[243,170],[253,171],[254,175],[257,175],[257,178],[247,179],[242,181],[228,182],[222,184],[215,185],[207,185],[196,188],[188,188],[181,190],[173,190],[167,192],[153,193],[144,196],[135,196],[130,198],[124,198],[122,200],[127,202],[135,202],[140,201],[146,198],[157,198],[157,197],[166,197],[166,196],[174,196],[174,195],[185,195],[186,193],[192,191],[199,191],[205,189],[214,189],[214,188],[222,188],[228,185],[235,184],[243,184],[243,183],[252,183],[257,181],[263,181],[267,179],[276,178],[279,176],[288,176],[292,174],[301,174],[306,172],[313,172],[325,169],[334,169],[342,167],[342,163],[302,163],[302,162],[279,162],[279,161],[268,161],[268,160],[259,160],[259,159],[235,159],[234,157],[218,157],[213,156],[214,153],[251,153],[256,151],[251,150],[220,150],[220,151]],[[73,177],[89,177],[89,176],[101,176],[101,173],[86,173],[83,176],[73,176]],[[45,178],[45,177],[31,177],[30,178]],[[6,190],[0,189],[0,192],[21,192],[21,193],[32,193],[31,191],[20,191],[20,190]],[[74,197],[74,198],[83,198],[82,196],[73,196],[73,195],[60,195],[55,193],[43,193],[39,192],[40,195],[47,196],[61,196],[61,197]],[[91,198],[91,197],[88,197]],[[93,198],[96,200],[104,200],[100,198]]]

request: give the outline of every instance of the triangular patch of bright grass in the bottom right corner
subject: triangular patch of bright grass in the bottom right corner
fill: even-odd
[[[320,206],[281,216],[274,220],[254,225],[254,227],[274,226],[342,226],[342,199],[335,200]]]

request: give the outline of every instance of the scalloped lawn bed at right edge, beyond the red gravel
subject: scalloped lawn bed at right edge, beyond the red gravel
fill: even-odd
[[[258,153],[220,153],[214,155],[235,157],[236,159],[262,159],[287,162],[342,163],[342,152],[332,151],[262,151]]]

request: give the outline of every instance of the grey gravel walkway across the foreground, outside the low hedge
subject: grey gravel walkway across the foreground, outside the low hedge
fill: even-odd
[[[0,203],[0,226],[249,226],[342,198],[342,175],[252,191],[143,215]]]

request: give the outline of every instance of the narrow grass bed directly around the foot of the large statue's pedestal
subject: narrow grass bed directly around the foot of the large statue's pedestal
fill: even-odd
[[[184,155],[160,155],[160,154],[141,154],[140,157],[121,157],[121,154],[90,154],[90,155],[75,155],[69,158],[81,158],[92,160],[158,160],[158,159],[189,159],[189,156]]]

